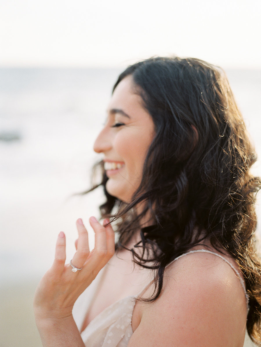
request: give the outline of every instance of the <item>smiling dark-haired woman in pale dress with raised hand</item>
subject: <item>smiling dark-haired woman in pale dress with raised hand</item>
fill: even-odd
[[[197,59],[141,61],[119,76],[107,112],[93,187],[104,186],[105,219],[90,218],[92,252],[78,219],[70,264],[59,234],[35,295],[43,345],[243,346],[246,328],[261,341],[260,180],[224,73]]]

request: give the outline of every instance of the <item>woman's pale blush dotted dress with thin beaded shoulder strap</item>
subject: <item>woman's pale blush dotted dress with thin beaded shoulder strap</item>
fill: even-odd
[[[170,264],[172,264],[177,259],[182,256],[196,253],[196,252],[205,252],[218,256],[223,259],[235,272],[236,276],[240,280],[240,283],[244,289],[246,304],[248,308],[249,297],[246,294],[245,283],[240,276],[240,273],[237,271],[235,266],[233,266],[228,260],[218,253],[208,251],[207,249],[197,249],[184,253],[174,259]],[[168,266],[170,265],[168,264]],[[73,306],[73,317],[77,324],[79,330],[81,330],[82,324],[85,319],[86,312],[90,306],[90,303],[94,297],[97,286],[102,277],[103,270],[99,272],[96,279],[91,283],[91,285],[82,293],[77,299],[75,305]],[[148,285],[146,286],[148,287]],[[145,287],[145,288],[146,288]],[[143,293],[144,289],[139,293]],[[137,295],[137,297],[139,296]],[[111,306],[107,307],[100,314],[98,314],[82,331],[81,338],[84,341],[85,346],[88,347],[126,347],[133,333],[132,331],[132,313],[135,306],[135,297],[128,296],[125,297]]]

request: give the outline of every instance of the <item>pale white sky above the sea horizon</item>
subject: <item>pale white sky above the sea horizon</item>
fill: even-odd
[[[0,0],[0,66],[124,66],[155,55],[261,68],[260,0]]]

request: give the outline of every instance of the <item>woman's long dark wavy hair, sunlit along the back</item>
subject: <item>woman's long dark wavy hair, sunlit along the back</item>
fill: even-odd
[[[131,249],[135,263],[155,270],[154,294],[147,301],[160,295],[165,266],[199,242],[210,240],[212,247],[227,251],[241,269],[249,295],[247,331],[260,342],[254,203],[261,181],[249,172],[256,156],[226,75],[202,60],[156,57],[129,66],[113,91],[129,75],[156,135],[130,203],[108,194],[103,164],[95,167],[102,178],[91,190],[104,187],[106,202],[100,211],[102,218],[117,221],[116,248],[126,247],[149,212],[153,225],[141,228],[141,242]],[[141,202],[138,214],[135,207]]]

